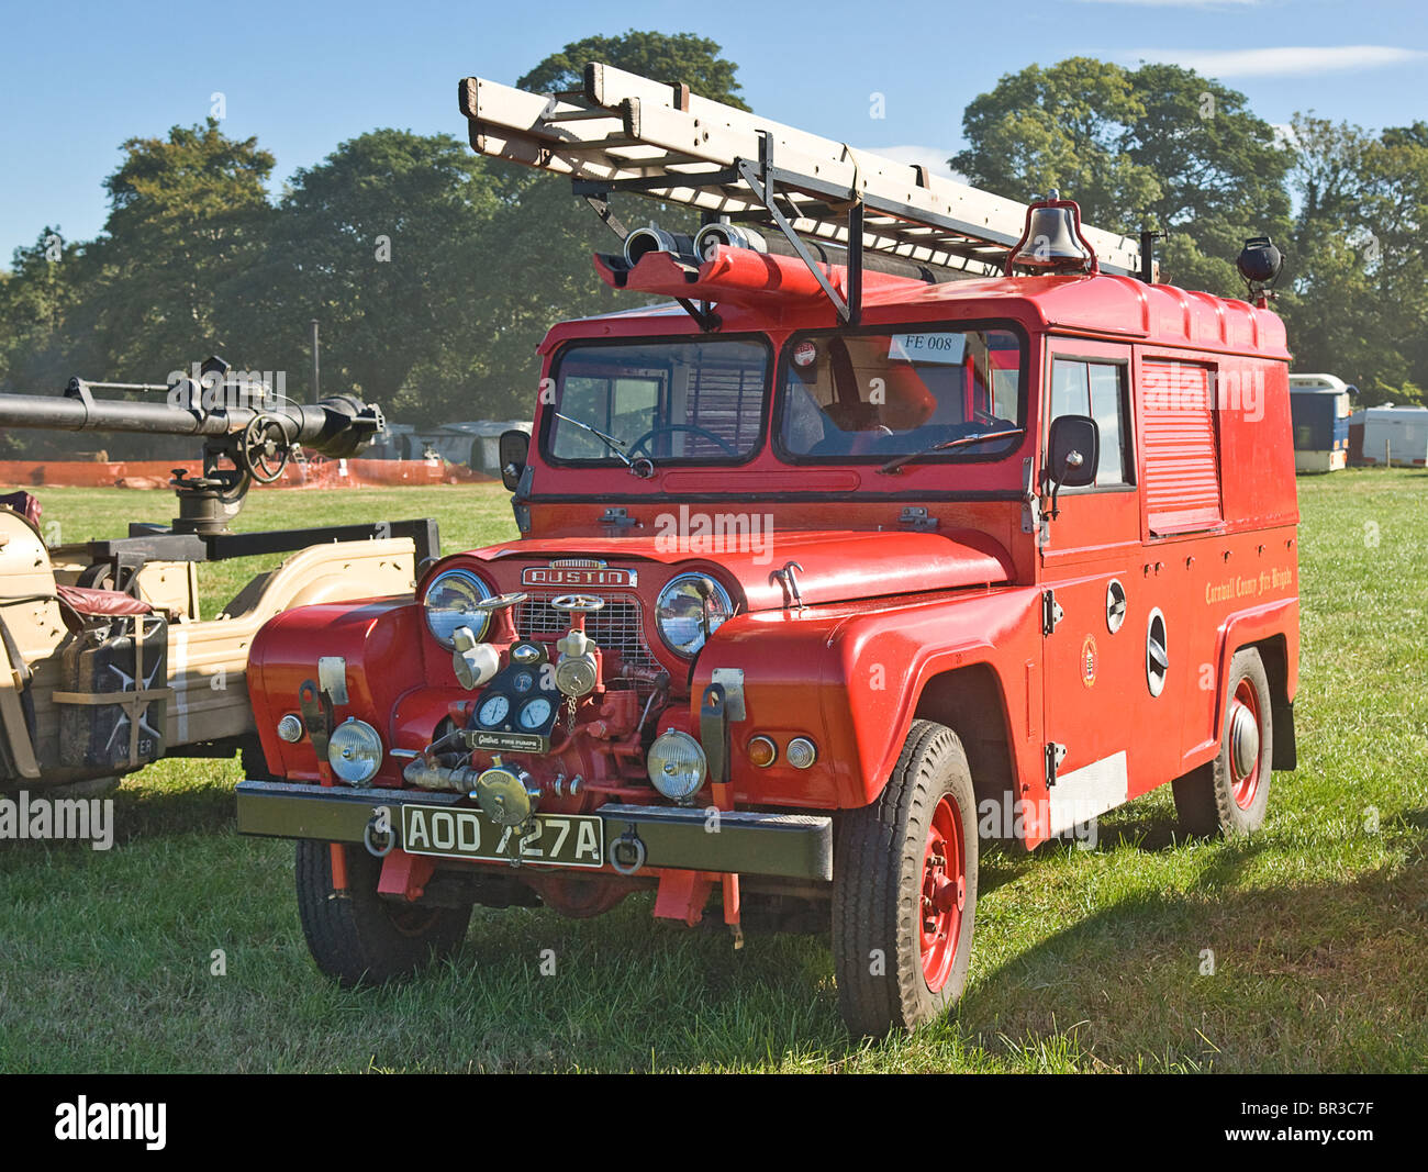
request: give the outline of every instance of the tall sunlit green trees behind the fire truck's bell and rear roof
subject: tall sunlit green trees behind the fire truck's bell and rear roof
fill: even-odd
[[[1071,59],[1002,77],[962,127],[951,164],[974,184],[1012,198],[1055,186],[1098,227],[1167,230],[1172,284],[1242,295],[1235,256],[1274,236],[1297,368],[1339,374],[1361,404],[1428,385],[1428,123],[1375,136],[1299,114],[1277,134],[1191,70]]]

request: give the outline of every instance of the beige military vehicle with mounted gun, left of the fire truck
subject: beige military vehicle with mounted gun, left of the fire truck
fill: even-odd
[[[246,687],[260,627],[293,605],[410,597],[417,564],[440,555],[430,520],[233,531],[248,488],[300,448],[340,458],[370,443],[381,410],[351,395],[294,404],[210,358],[163,387],[71,378],[60,395],[0,394],[0,427],[203,444],[203,473],[176,471],[167,525],[66,544],[29,492],[0,498],[0,791],[107,785],[164,755],[240,749],[264,774]],[[291,557],[201,620],[197,567],[263,554]]]

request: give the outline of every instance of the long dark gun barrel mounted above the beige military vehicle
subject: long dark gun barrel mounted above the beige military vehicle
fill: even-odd
[[[103,400],[87,387],[63,395],[0,394],[0,427],[54,431],[126,431],[144,435],[218,437],[241,434],[263,417],[283,428],[288,444],[333,458],[356,455],[381,430],[381,411],[353,395],[318,404],[280,401],[204,410],[174,403]]]

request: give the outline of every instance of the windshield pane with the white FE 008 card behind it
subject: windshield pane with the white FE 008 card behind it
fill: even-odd
[[[798,460],[1005,455],[1025,424],[1022,344],[1010,330],[795,337],[784,364],[780,448]],[[944,444],[942,450],[935,450]]]

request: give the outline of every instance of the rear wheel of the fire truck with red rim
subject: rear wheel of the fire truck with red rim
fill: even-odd
[[[1244,702],[1251,698],[1252,705]],[[1237,708],[1245,708],[1254,721],[1258,754],[1244,738],[1245,717],[1237,715]],[[1274,761],[1274,708],[1269,677],[1252,647],[1237,651],[1230,661],[1220,727],[1215,759],[1171,782],[1181,829],[1197,838],[1238,838],[1264,825]],[[1245,755],[1255,762],[1252,771],[1241,768]]]

